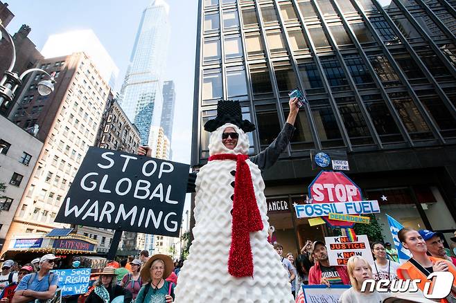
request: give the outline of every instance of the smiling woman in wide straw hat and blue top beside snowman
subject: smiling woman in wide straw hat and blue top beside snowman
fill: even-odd
[[[173,260],[167,255],[153,255],[141,269],[145,283],[135,303],[170,303],[174,300],[174,285],[166,278],[174,270]]]

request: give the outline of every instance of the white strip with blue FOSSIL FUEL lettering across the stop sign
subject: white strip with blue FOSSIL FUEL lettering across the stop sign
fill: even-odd
[[[297,218],[312,218],[329,216],[331,213],[339,215],[378,214],[380,212],[380,207],[378,206],[377,200],[353,201],[344,203],[296,204],[295,212]],[[332,220],[333,219],[331,219],[331,221]],[[337,223],[335,225],[337,226]]]

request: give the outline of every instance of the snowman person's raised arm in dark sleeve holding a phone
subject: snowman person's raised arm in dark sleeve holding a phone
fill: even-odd
[[[261,169],[261,171],[274,165],[279,159],[280,154],[286,149],[288,143],[290,143],[293,131],[295,131],[293,125],[295,124],[299,112],[297,101],[297,98],[293,98],[288,102],[290,105],[290,113],[288,114],[287,122],[283,125],[283,129],[280,131],[277,138],[260,154],[250,157],[250,160],[258,165],[258,168]]]

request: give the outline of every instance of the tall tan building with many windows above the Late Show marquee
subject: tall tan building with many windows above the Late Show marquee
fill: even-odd
[[[85,53],[43,59],[39,66],[56,73],[55,91],[48,96],[37,93],[42,73],[30,76],[23,84],[19,104],[11,113],[16,125],[27,129],[37,125],[37,138],[44,143],[12,221],[6,242],[21,232],[47,232],[64,226],[55,223],[78,167],[89,146],[93,146],[105,109],[109,86]],[[106,237],[109,247],[112,232],[94,232],[92,239]],[[6,244],[5,247],[8,247]],[[99,245],[98,248],[102,248]]]

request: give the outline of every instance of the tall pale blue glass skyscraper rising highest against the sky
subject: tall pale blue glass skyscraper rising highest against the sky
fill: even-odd
[[[143,144],[149,144],[150,127],[160,126],[162,77],[170,36],[168,14],[164,0],[152,1],[143,11],[121,89],[119,103],[139,129]]]

